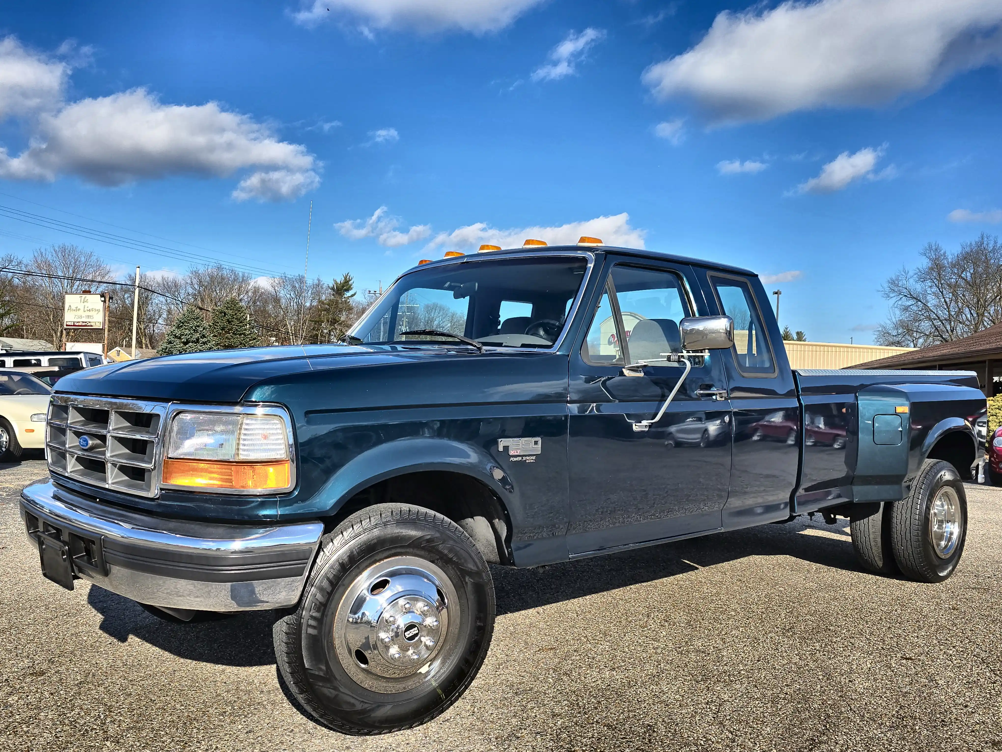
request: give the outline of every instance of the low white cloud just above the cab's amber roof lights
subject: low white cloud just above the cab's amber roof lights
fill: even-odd
[[[646,231],[630,227],[629,215],[625,212],[558,227],[500,230],[478,222],[451,233],[439,233],[428,244],[428,248],[445,248],[449,251],[476,251],[482,245],[521,248],[527,238],[545,241],[551,246],[574,245],[583,235],[600,238],[608,246],[642,249]]]

